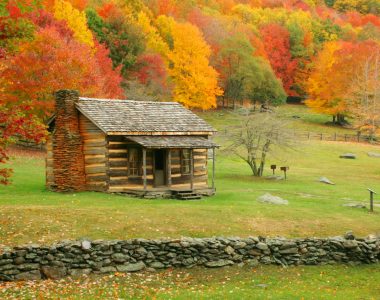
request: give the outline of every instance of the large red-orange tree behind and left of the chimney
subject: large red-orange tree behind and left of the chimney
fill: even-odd
[[[87,96],[121,96],[121,78],[112,70],[108,51],[95,51],[94,55],[86,44],[62,37],[54,27],[41,28],[32,42],[5,60],[1,99],[10,106],[30,104],[32,113],[46,118],[54,108],[53,92],[62,87]]]

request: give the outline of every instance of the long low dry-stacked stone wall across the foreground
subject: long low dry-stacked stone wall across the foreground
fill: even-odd
[[[14,247],[0,254],[0,280],[58,279],[66,275],[234,264],[370,264],[380,259],[380,237],[182,238],[65,241]]]

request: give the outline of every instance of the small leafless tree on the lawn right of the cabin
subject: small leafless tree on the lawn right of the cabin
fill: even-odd
[[[225,150],[243,159],[258,177],[263,175],[267,155],[274,146],[284,151],[295,145],[287,123],[273,113],[246,114],[239,125],[226,130],[226,137],[230,144]]]

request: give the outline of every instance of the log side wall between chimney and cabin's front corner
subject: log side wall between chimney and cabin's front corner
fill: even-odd
[[[106,135],[80,114],[79,131],[83,139],[86,190],[107,191],[108,149]]]

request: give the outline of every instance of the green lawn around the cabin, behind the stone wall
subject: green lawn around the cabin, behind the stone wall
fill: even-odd
[[[366,155],[379,147],[333,142],[310,142],[285,160],[287,181],[250,175],[235,157],[217,155],[217,195],[201,201],[142,200],[85,192],[60,194],[45,190],[42,157],[18,154],[12,162],[14,182],[0,188],[0,244],[47,243],[80,237],[331,236],[353,230],[358,235],[380,232],[380,213],[343,207],[367,202],[371,187],[380,191],[380,160]],[[356,160],[339,159],[354,152]],[[281,158],[284,158],[281,156]],[[270,170],[266,170],[270,174]],[[335,186],[317,180],[327,176]],[[271,193],[289,206],[259,203]],[[377,203],[380,203],[377,201]],[[380,212],[380,207],[377,208]]]

